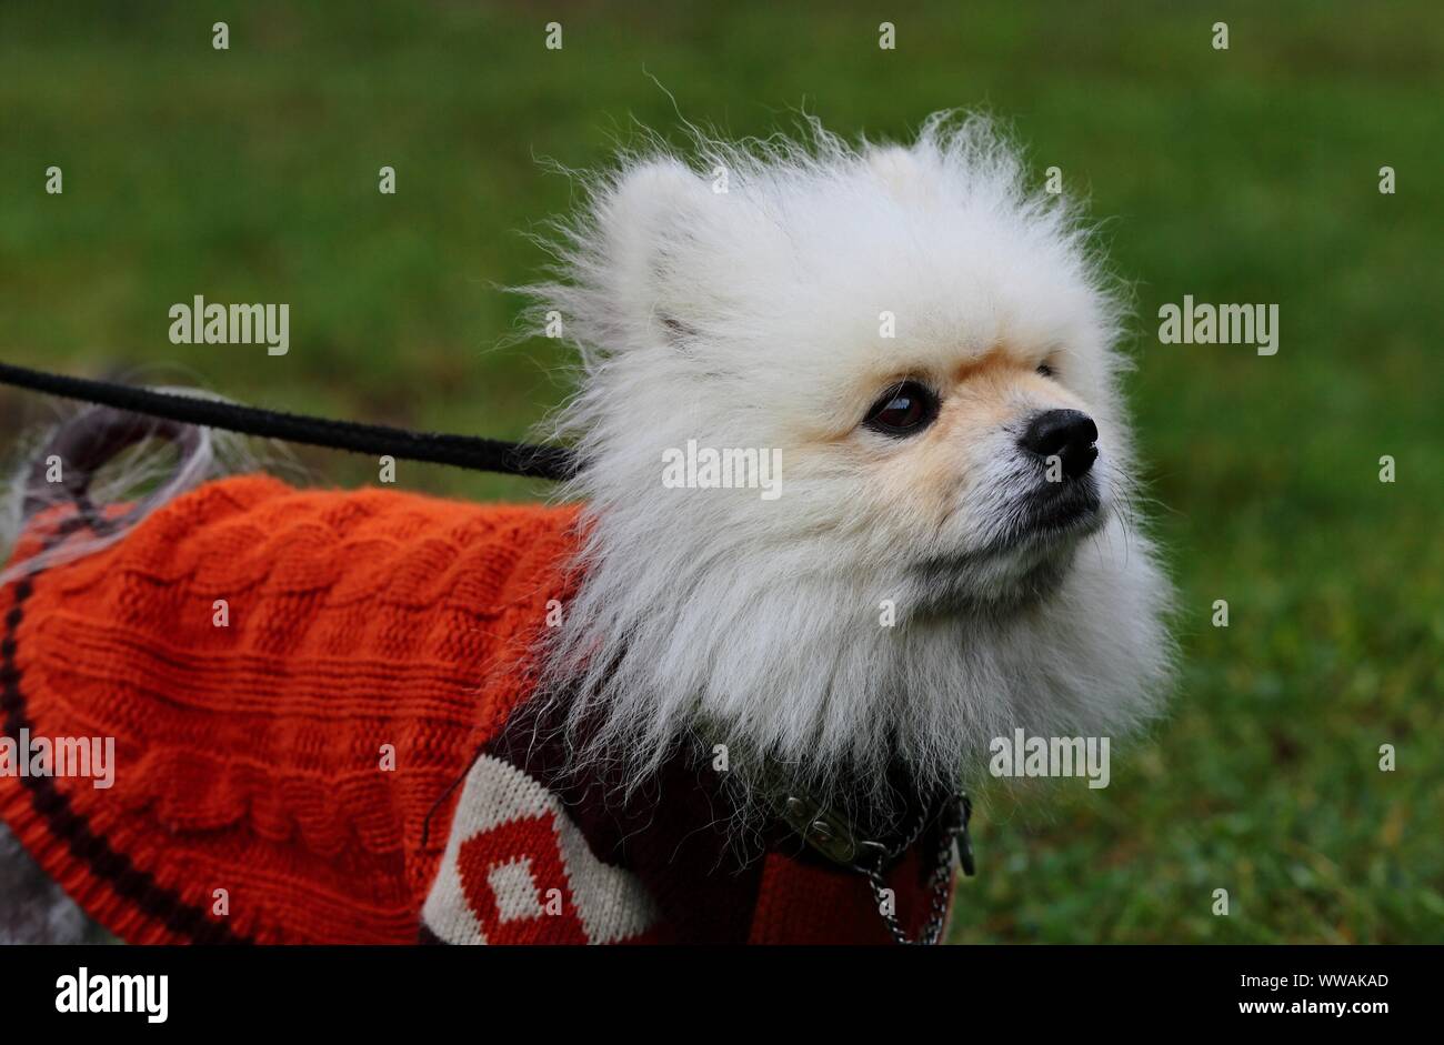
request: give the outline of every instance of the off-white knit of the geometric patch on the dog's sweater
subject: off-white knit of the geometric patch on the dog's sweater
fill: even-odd
[[[586,943],[615,943],[645,932],[657,922],[657,906],[637,876],[598,860],[556,795],[510,762],[482,755],[466,774],[446,839],[446,853],[422,908],[422,919],[439,940],[448,944],[487,943],[485,930],[462,882],[462,846],[508,823],[534,817],[552,824],[575,904],[572,914],[580,922]],[[524,852],[487,854],[487,882],[495,896],[491,914],[497,922],[547,917],[533,856]]]

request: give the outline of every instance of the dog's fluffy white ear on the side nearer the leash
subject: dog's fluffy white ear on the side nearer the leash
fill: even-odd
[[[686,348],[708,299],[708,183],[674,159],[625,170],[599,211],[614,320],[630,341]]]

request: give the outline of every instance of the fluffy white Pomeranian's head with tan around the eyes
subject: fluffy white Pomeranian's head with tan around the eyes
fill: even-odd
[[[1149,710],[1116,309],[985,123],[631,159],[537,300],[582,352],[589,527],[549,660],[638,766],[700,727],[823,790],[940,782]]]

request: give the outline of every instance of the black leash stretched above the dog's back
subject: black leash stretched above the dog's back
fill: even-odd
[[[97,403],[182,424],[225,429],[245,436],[283,439],[332,450],[390,455],[404,460],[423,460],[433,465],[452,465],[477,472],[501,472],[534,479],[569,479],[576,473],[576,458],[563,446],[508,443],[479,436],[412,432],[387,424],[306,417],[110,381],[46,374],[26,367],[13,367],[7,362],[0,362],[0,384]]]

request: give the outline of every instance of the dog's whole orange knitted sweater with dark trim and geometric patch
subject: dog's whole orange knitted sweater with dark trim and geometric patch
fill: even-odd
[[[689,857],[695,781],[618,821],[518,756],[575,530],[575,508],[266,476],[178,498],[0,590],[0,818],[133,943],[887,940],[858,878]],[[920,869],[895,885],[921,906]]]

